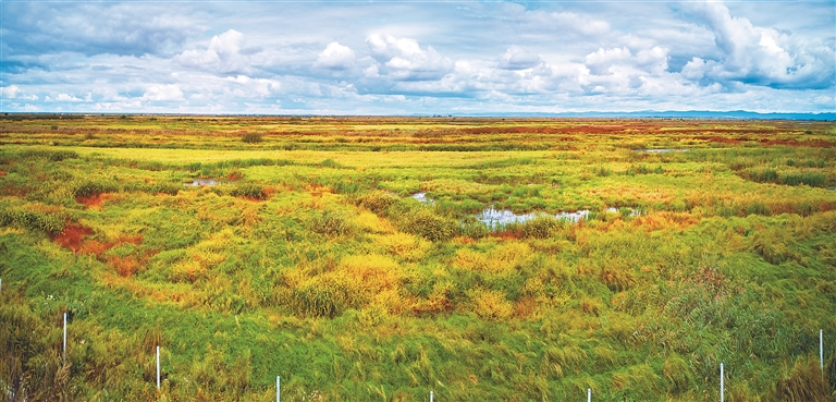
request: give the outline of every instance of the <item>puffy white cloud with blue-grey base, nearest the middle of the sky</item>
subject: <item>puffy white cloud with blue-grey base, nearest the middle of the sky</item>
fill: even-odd
[[[377,74],[394,81],[441,80],[453,70],[453,61],[441,56],[431,46],[421,48],[411,38],[372,34],[366,38],[372,57],[379,62]],[[373,76],[374,70],[366,70]]]

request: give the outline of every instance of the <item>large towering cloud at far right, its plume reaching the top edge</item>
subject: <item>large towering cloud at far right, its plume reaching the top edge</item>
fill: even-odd
[[[777,88],[834,85],[833,48],[804,42],[790,33],[754,26],[746,17],[733,16],[722,3],[691,4],[690,10],[714,34],[722,54],[716,60],[693,57],[683,68],[684,76]]]

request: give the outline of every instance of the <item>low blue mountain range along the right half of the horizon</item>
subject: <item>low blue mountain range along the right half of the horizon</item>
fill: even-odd
[[[415,114],[432,115],[432,114]],[[437,114],[439,115],[439,114]],[[505,112],[505,113],[450,113],[453,117],[518,117],[518,118],[664,118],[664,119],[758,119],[758,120],[836,120],[836,112],[825,113],[758,113],[746,110],[734,111],[635,111],[635,112]]]

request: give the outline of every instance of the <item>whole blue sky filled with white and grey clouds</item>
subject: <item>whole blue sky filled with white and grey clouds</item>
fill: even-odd
[[[836,111],[836,1],[0,2],[0,110]]]

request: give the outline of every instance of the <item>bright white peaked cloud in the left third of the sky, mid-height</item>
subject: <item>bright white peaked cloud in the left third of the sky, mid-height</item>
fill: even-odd
[[[186,50],[174,57],[180,64],[218,74],[248,74],[249,58],[244,54],[244,34],[230,29],[216,35],[206,50]]]

